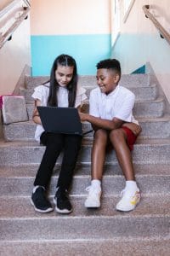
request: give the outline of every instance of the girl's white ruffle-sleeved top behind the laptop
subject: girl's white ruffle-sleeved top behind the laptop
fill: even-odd
[[[82,86],[77,85],[77,97],[75,102],[75,108],[80,106],[83,101],[87,99],[87,96],[85,94],[86,90],[82,88]],[[41,106],[47,106],[48,102],[48,95],[49,95],[49,83],[39,85],[34,89],[34,92],[32,94],[32,97],[35,100],[41,101]],[[58,100],[58,106],[59,107],[68,107],[68,90],[65,87],[59,86],[59,90],[57,93],[57,100]],[[44,131],[42,125],[37,125],[37,129],[35,132],[35,139],[37,142],[40,142],[40,137],[42,135],[42,132]]]

